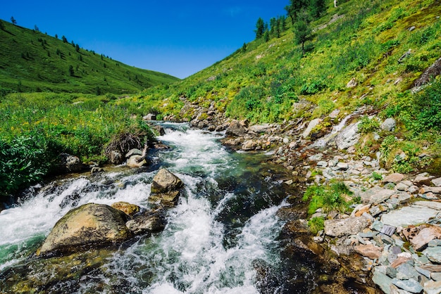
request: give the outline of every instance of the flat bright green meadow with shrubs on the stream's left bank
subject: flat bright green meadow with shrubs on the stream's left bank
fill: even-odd
[[[60,153],[106,162],[106,146],[121,134],[153,139],[142,113],[111,95],[16,93],[0,102],[0,196],[54,171]],[[113,101],[113,103],[112,103]]]

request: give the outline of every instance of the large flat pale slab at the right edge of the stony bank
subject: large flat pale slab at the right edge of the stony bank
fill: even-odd
[[[393,210],[381,217],[383,224],[390,226],[409,226],[425,224],[431,217],[441,212],[441,203],[433,201],[417,201],[413,205]]]

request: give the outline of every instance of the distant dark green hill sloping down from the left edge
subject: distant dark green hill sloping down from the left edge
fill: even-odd
[[[0,91],[125,94],[178,80],[62,39],[0,20]]]

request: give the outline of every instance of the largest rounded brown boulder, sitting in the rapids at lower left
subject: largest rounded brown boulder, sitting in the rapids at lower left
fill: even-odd
[[[87,203],[70,210],[56,222],[37,254],[75,253],[123,242],[132,236],[126,221],[127,215],[120,210]]]

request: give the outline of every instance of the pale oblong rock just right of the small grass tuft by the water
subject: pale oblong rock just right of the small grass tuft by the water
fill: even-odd
[[[350,236],[363,231],[370,224],[365,217],[325,220],[325,234],[332,237]]]

